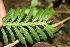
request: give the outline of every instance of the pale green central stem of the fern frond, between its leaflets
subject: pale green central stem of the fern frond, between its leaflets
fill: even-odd
[[[21,23],[17,23],[17,22],[14,22],[14,23],[4,23],[3,26],[36,26],[36,25],[43,25],[43,24],[47,24],[47,22],[43,21],[43,22],[28,22],[28,23],[24,23],[24,22],[21,22]]]

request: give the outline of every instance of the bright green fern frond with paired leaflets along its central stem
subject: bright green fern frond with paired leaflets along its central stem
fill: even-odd
[[[33,44],[33,39],[39,42],[40,37],[46,40],[48,37],[46,33],[48,33],[51,38],[54,37],[53,33],[57,30],[49,24],[52,22],[49,18],[54,13],[53,9],[46,8],[45,10],[39,9],[37,11],[34,6],[31,6],[28,14],[25,13],[26,11],[27,9],[25,7],[21,9],[17,8],[16,10],[10,9],[3,19],[4,27],[1,28],[1,31],[5,44],[8,44],[8,34],[6,34],[6,31],[10,34],[9,36],[12,41],[19,39],[22,44],[25,44],[26,39],[31,44]],[[33,15],[34,11],[37,11],[35,15]]]

